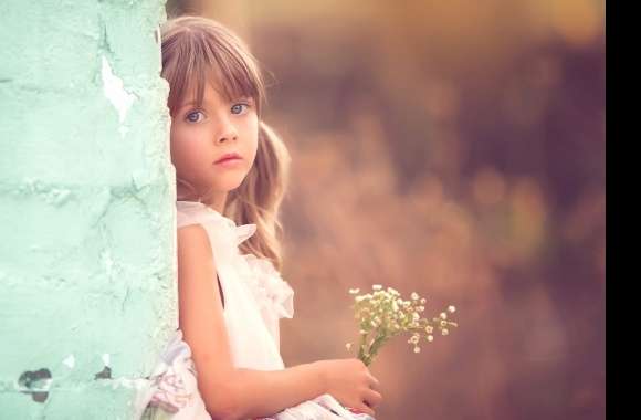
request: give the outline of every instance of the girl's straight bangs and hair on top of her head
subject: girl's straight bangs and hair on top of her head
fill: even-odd
[[[244,45],[234,41],[193,29],[162,41],[162,73],[170,86],[172,115],[186,99],[202,106],[207,84],[227,101],[252,97],[260,115],[265,91],[259,66]]]

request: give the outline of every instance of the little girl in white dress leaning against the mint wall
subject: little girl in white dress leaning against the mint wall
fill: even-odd
[[[162,27],[177,180],[179,329],[144,418],[372,419],[378,380],[356,358],[285,368],[279,319],[279,207],[288,154],[261,119],[256,60],[230,30],[181,17]],[[350,407],[347,410],[345,407]]]

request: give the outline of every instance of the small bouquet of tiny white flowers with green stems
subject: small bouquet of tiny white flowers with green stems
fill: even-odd
[[[350,288],[354,296],[355,318],[359,323],[360,344],[358,346],[358,358],[369,366],[380,348],[390,338],[403,333],[411,334],[408,343],[414,346],[414,353],[419,353],[419,342],[421,336],[427,343],[434,339],[435,332],[448,335],[450,328],[459,325],[449,319],[456,308],[452,305],[446,311],[441,312],[438,317],[423,318],[421,313],[425,309],[425,298],[417,293],[411,294],[409,301],[403,301],[400,293],[391,287],[387,291],[382,286],[375,284],[372,293],[358,295],[358,288]],[[347,349],[351,348],[351,343],[347,343]]]

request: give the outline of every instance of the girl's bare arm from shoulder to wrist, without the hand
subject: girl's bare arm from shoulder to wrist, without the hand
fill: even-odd
[[[326,392],[319,363],[284,370],[233,367],[207,232],[193,224],[178,230],[179,324],[191,348],[198,388],[214,419],[275,413]],[[207,333],[203,333],[207,332]]]

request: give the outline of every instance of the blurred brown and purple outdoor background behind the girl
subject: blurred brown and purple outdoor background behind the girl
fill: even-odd
[[[177,1],[267,72],[293,156],[293,366],[354,357],[351,287],[460,327],[371,365],[378,420],[605,419],[605,0]]]

